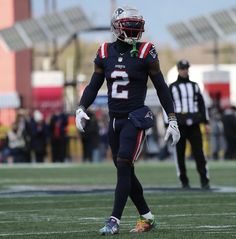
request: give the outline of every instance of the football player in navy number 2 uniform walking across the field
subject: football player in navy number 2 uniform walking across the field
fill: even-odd
[[[83,120],[89,120],[86,109],[93,103],[106,79],[110,117],[109,144],[117,169],[117,184],[112,213],[100,229],[102,235],[119,232],[128,197],[140,215],[131,231],[146,232],[156,226],[134,170],[134,161],[140,153],[145,129],[153,125],[152,112],[144,106],[148,76],[168,115],[169,126],[165,139],[170,136],[172,145],[175,145],[180,138],[172,99],[160,70],[155,47],[150,42],[139,42],[144,24],[142,15],[133,7],[119,7],[115,10],[111,30],[116,41],[105,42],[98,49],[94,73],[76,110],[76,125],[83,131]]]

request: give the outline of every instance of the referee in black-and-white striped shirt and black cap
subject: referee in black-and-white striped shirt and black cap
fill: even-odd
[[[169,86],[181,135],[176,145],[174,158],[182,188],[188,189],[190,184],[185,166],[185,147],[186,140],[188,140],[200,176],[201,188],[209,189],[208,171],[200,131],[200,123],[207,124],[209,118],[198,84],[189,79],[189,67],[190,64],[187,60],[180,60],[177,63],[178,78]]]

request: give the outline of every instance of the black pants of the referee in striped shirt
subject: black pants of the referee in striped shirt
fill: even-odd
[[[207,176],[206,159],[203,153],[202,134],[199,124],[191,126],[179,125],[180,140],[176,145],[177,151],[177,170],[178,176],[183,186],[189,185],[189,179],[187,176],[187,170],[185,166],[185,148],[186,140],[189,141],[192,148],[192,155],[196,162],[197,171],[200,176],[201,187],[204,187],[209,183]]]

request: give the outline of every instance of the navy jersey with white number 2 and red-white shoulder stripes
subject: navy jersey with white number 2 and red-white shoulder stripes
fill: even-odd
[[[117,52],[114,45],[103,43],[94,62],[104,70],[110,114],[127,115],[144,105],[148,64],[158,61],[158,55],[149,42],[137,43],[137,57],[132,57],[130,51]]]

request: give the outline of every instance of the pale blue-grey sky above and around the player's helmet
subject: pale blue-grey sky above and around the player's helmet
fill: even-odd
[[[32,0],[34,16],[44,14],[44,2],[44,0]],[[139,9],[146,21],[144,33],[146,38],[159,45],[167,43],[173,46],[177,45],[167,30],[169,24],[187,21],[214,11],[236,8],[236,0],[116,0],[115,2],[116,6],[129,5]],[[73,6],[81,6],[94,25],[107,26],[110,24],[110,0],[57,0],[58,11]],[[226,39],[234,40],[235,35],[227,36]],[[89,38],[91,39],[91,36]],[[110,34],[104,33],[97,33],[92,37],[98,41],[110,40],[109,38]]]

